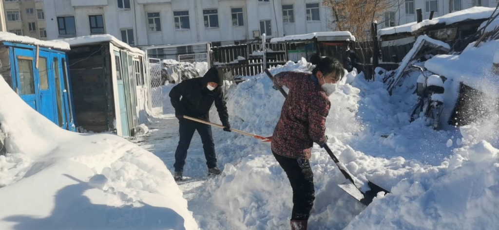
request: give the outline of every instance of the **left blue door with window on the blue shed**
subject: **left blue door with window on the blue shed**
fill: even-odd
[[[17,94],[31,108],[37,110],[38,82],[34,76],[33,51],[27,49],[14,50],[15,78],[17,81]]]

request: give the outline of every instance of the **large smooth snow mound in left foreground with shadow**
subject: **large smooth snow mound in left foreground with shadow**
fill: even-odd
[[[112,134],[61,129],[0,76],[1,230],[197,230],[163,161]]]

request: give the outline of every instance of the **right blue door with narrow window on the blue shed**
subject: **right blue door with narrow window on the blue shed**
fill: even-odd
[[[54,71],[50,70],[51,68],[49,68],[49,66],[50,53],[40,51],[38,57],[38,89],[40,95],[40,104],[38,111],[40,114],[44,115],[52,122],[60,124],[61,119],[56,119],[57,115],[55,113],[56,111],[54,110],[54,96],[56,94],[54,90]]]

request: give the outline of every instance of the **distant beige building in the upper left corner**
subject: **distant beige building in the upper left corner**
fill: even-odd
[[[42,0],[2,0],[6,31],[17,35],[47,39]]]

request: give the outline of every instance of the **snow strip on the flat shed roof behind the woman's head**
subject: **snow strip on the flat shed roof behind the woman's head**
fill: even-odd
[[[284,37],[276,37],[270,39],[270,43],[278,43],[285,41],[297,41],[297,40],[310,40],[317,38],[317,40],[322,41],[355,41],[355,36],[349,31],[332,31],[332,32],[317,32],[317,33],[307,33],[299,35],[288,35]]]

